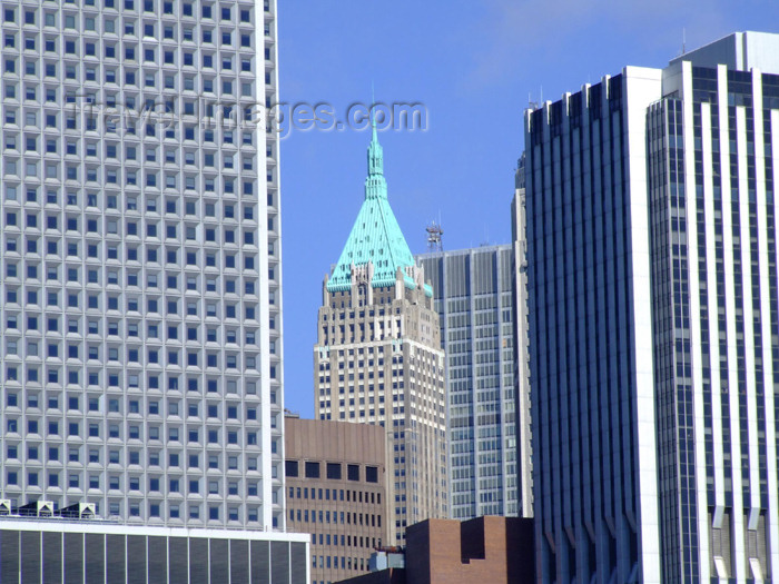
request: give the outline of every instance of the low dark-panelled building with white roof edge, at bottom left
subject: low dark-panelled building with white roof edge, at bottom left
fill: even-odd
[[[0,505],[0,582],[309,582],[304,534],[126,525],[73,507],[57,517],[42,503],[11,514]]]

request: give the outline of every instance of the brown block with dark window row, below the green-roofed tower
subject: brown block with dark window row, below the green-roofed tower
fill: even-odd
[[[310,582],[368,571],[389,540],[387,435],[375,424],[286,417],[287,528],[310,534]]]

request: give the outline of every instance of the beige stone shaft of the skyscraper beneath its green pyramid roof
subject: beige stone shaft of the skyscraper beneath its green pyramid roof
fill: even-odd
[[[374,294],[375,304],[368,310],[345,309],[353,307],[348,291],[335,293],[332,304],[319,309],[319,329],[323,330],[319,340],[325,339],[327,326],[324,324],[331,323],[329,335],[341,344],[323,345],[314,353],[314,366],[318,372],[317,414],[319,419],[368,422],[387,427],[392,424],[393,430],[387,433],[392,436],[394,462],[394,537],[400,544],[405,541],[407,525],[447,515],[444,356],[441,349],[421,343],[393,339],[391,335],[407,330],[408,307],[395,306],[393,313],[388,307],[394,294],[392,288],[377,289]],[[386,309],[382,308],[385,300]],[[382,327],[377,327],[378,333],[374,333],[373,327],[363,327],[371,330],[367,343],[364,338],[363,343],[354,343],[354,337],[344,335],[343,327],[354,327],[353,324],[335,325],[336,321],[356,321],[361,327],[359,321],[378,316],[387,319],[384,329],[389,331],[393,330],[392,317],[402,313],[404,324],[398,319],[394,324],[398,333],[388,333],[387,338]],[[422,313],[417,319],[430,316]],[[336,337],[339,327],[341,337]],[[348,343],[349,338],[353,343]],[[337,374],[333,373],[336,370]]]

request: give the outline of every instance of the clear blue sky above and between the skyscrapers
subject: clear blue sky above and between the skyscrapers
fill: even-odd
[[[344,111],[423,102],[426,131],[384,131],[389,202],[413,253],[441,218],[444,247],[510,241],[522,115],[625,65],[663,67],[737,30],[779,32],[779,2],[279,0],[280,99]],[[767,27],[773,28],[767,28]],[[363,200],[367,131],[282,141],[286,407],[314,414],[322,281]]]

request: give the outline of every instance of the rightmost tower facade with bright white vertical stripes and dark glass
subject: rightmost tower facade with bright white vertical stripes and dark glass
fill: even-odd
[[[770,580],[779,76],[673,69],[648,113],[663,572]]]

